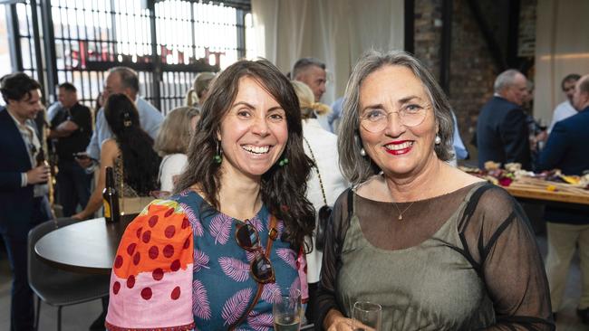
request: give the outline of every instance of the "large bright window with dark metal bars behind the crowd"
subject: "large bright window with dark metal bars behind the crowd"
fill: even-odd
[[[69,81],[94,107],[107,71],[127,66],[165,114],[182,106],[198,72],[251,57],[249,0],[26,0],[6,9],[14,70],[40,80],[48,101]]]

